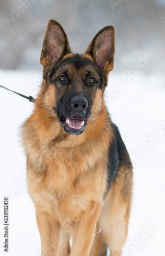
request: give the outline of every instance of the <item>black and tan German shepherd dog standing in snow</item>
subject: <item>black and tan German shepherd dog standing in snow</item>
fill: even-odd
[[[81,55],[71,52],[61,25],[49,20],[43,82],[22,126],[42,256],[103,256],[107,247],[111,256],[122,254],[132,166],[103,99],[114,53],[113,26],[100,30]]]

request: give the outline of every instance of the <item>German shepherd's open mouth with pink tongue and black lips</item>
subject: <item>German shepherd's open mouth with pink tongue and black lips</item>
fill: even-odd
[[[85,121],[78,114],[72,117],[65,117],[60,113],[59,119],[60,119],[61,125],[64,127],[64,130],[71,135],[81,134],[85,130],[85,127],[87,125],[87,121]]]

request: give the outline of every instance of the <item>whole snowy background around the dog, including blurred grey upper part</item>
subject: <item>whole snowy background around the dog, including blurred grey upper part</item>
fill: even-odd
[[[164,0],[26,0],[0,4],[0,84],[36,96],[42,82],[42,41],[57,19],[74,52],[84,52],[99,29],[116,28],[114,71],[105,101],[133,162],[133,198],[123,256],[164,255],[165,84]],[[12,9],[13,8],[13,9]],[[23,9],[22,9],[23,10]],[[15,14],[16,15],[16,14]],[[8,26],[8,25],[9,26]],[[26,185],[20,126],[34,104],[0,88],[0,255],[40,256],[35,207]],[[4,197],[9,197],[9,252],[4,252]]]

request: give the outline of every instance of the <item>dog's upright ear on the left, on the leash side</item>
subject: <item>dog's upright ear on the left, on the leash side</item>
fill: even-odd
[[[40,63],[43,67],[50,66],[70,52],[71,50],[64,29],[56,20],[50,19],[43,41]]]

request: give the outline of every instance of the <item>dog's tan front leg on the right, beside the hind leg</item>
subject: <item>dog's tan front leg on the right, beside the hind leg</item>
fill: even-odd
[[[101,203],[97,203],[85,212],[72,228],[73,244],[70,256],[88,256],[95,236],[96,223],[101,211]]]

